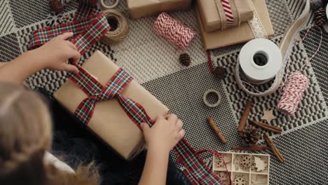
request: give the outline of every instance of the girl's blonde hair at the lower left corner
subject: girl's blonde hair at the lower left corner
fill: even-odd
[[[93,163],[75,174],[43,163],[52,125],[41,97],[20,85],[0,83],[0,184],[99,184]]]

